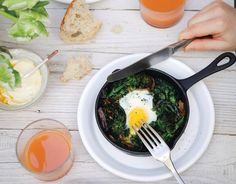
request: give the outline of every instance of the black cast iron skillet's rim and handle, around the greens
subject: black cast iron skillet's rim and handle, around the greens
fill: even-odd
[[[224,62],[223,64],[220,64],[220,62],[223,59],[227,59],[228,60],[226,62]],[[222,61],[223,62],[223,61]],[[187,96],[187,90],[194,85],[195,83],[199,82],[200,80],[202,80],[203,78],[214,74],[218,71],[224,70],[228,67],[230,67],[231,65],[233,65],[236,62],[236,56],[233,53],[230,52],[226,52],[221,54],[220,56],[218,56],[211,64],[209,64],[206,68],[204,68],[203,70],[201,70],[200,72],[186,78],[186,79],[176,79],[173,76],[157,70],[157,69],[153,69],[153,68],[149,68],[149,69],[145,69],[142,72],[145,72],[148,75],[153,76],[154,78],[162,78],[168,82],[170,82],[173,86],[175,86],[175,88],[177,89],[179,95],[180,95],[180,99],[184,102],[184,106],[185,106],[185,112],[186,112],[186,116],[185,116],[185,125],[183,127],[183,129],[181,130],[181,132],[179,132],[179,136],[175,138],[175,140],[173,141],[173,145],[170,146],[170,149],[173,149],[175,144],[177,143],[177,141],[179,140],[179,138],[182,136],[182,134],[184,133],[184,130],[187,126],[188,123],[188,119],[189,119],[189,112],[190,112],[190,108],[189,107],[189,101],[188,101],[188,96]],[[137,152],[137,151],[131,151],[125,148],[120,147],[119,145],[117,145],[115,142],[113,142],[109,136],[107,136],[104,127],[101,123],[99,114],[98,114],[98,108],[99,108],[99,99],[101,96],[101,93],[103,91],[103,89],[105,87],[108,87],[109,85],[111,85],[111,83],[106,82],[104,84],[104,86],[102,87],[102,89],[100,90],[97,99],[96,99],[96,103],[95,103],[95,117],[96,117],[96,121],[98,124],[98,127],[100,129],[100,131],[102,132],[103,136],[116,148],[118,148],[119,150],[122,150],[128,154],[131,155],[140,155],[140,156],[144,156],[144,155],[150,155],[150,153],[147,152]]]

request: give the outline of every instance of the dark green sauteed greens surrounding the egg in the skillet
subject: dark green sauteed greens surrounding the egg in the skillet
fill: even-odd
[[[98,100],[99,123],[105,134],[116,145],[130,151],[146,152],[136,134],[130,134],[126,126],[126,114],[119,100],[136,89],[147,89],[153,96],[153,111],[157,119],[150,125],[173,147],[186,123],[185,107],[176,88],[162,78],[154,78],[139,73],[126,79],[108,84],[100,93]]]

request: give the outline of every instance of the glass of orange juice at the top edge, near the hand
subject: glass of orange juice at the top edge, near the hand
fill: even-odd
[[[185,0],[140,0],[140,11],[148,24],[167,28],[181,19],[184,5]]]

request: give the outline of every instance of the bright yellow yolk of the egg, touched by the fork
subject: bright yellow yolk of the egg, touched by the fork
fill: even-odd
[[[148,116],[143,108],[134,108],[128,114],[129,127],[140,128],[145,122],[147,122]]]

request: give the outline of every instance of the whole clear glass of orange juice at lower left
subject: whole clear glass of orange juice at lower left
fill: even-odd
[[[36,178],[57,180],[73,165],[71,134],[56,120],[34,121],[20,133],[16,155],[22,166]]]

